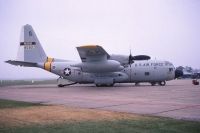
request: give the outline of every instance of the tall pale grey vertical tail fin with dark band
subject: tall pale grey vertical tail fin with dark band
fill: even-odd
[[[20,46],[17,53],[17,61],[45,62],[47,56],[31,25],[24,25],[21,29]]]

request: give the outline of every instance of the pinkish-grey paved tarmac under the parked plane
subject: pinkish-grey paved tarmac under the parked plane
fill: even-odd
[[[8,86],[0,88],[0,99],[200,120],[200,86],[191,80],[168,81],[166,86]]]

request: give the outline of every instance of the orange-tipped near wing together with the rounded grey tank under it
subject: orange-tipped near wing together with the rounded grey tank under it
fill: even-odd
[[[77,47],[82,63],[74,64],[73,67],[80,67],[83,72],[107,73],[118,72],[123,66],[118,61],[110,60],[110,55],[98,45],[87,45]]]

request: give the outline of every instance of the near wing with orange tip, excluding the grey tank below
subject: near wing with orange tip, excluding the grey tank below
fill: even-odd
[[[86,45],[77,47],[82,62],[107,60],[110,55],[98,45]]]

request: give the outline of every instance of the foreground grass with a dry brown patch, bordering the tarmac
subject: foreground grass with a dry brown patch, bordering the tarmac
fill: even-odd
[[[9,104],[9,106],[6,106],[6,104]],[[31,117],[34,120],[32,124],[24,122],[14,126],[1,124],[0,133],[200,133],[200,122],[197,121],[90,109],[53,108],[53,106],[40,106],[40,104],[8,100],[0,100],[0,107],[0,113],[6,110],[6,114],[10,116],[5,122],[9,123],[11,116],[16,115],[15,112],[12,113],[14,110],[20,110],[18,120],[22,120],[20,118],[24,116],[23,120],[31,120]],[[38,109],[39,111],[37,111]],[[23,111],[25,113],[22,113]],[[0,114],[0,116],[2,115]],[[48,116],[48,119],[46,116]],[[40,120],[41,117],[43,117],[43,122],[38,123],[37,120]],[[52,119],[61,119],[62,121],[48,123]],[[2,119],[0,121],[4,122]]]

